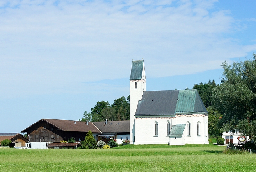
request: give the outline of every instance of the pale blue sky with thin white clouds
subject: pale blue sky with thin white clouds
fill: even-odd
[[[78,120],[129,95],[132,60],[147,91],[222,78],[256,52],[256,1],[1,0],[0,133],[42,118]]]

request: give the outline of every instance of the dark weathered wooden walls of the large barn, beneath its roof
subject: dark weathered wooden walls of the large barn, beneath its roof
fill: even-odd
[[[27,130],[31,142],[60,142],[74,137],[76,141],[85,139],[87,132],[62,131],[45,121],[32,125]]]

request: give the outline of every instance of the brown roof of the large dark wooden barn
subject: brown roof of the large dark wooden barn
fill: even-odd
[[[92,124],[91,122],[88,122],[88,125],[84,121],[62,120],[62,119],[40,119],[38,122],[40,122],[41,120],[45,121],[49,124],[52,124],[54,127],[57,127],[58,129],[60,129],[62,131],[88,132],[89,130],[91,130],[93,133],[101,133],[101,131],[98,130],[97,127],[95,127],[95,125]],[[38,123],[38,122],[36,122],[36,123]],[[34,123],[34,124],[36,124],[36,123]],[[34,124],[32,124],[32,125],[34,125]],[[30,128],[30,127],[28,127],[28,128]],[[21,133],[26,132],[26,130],[28,128],[21,131]]]

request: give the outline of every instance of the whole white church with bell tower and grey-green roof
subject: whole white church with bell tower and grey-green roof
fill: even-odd
[[[197,90],[146,91],[144,60],[132,61],[130,144],[209,144],[208,112]]]

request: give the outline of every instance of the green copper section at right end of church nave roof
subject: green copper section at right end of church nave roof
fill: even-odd
[[[197,90],[180,90],[175,113],[207,113]]]

